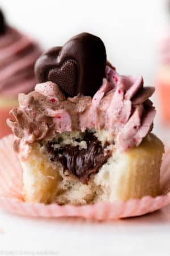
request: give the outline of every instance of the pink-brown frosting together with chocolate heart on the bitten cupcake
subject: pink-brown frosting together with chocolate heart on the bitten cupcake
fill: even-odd
[[[83,34],[83,38],[88,36]],[[41,83],[33,92],[19,94],[19,107],[11,111],[16,120],[8,120],[15,134],[16,151],[28,153],[30,144],[51,139],[56,132],[83,132],[86,129],[107,130],[116,147],[126,151],[138,146],[152,130],[156,111],[149,97],[155,89],[144,87],[142,76],[121,76],[111,65],[106,65],[104,44],[99,42],[101,39],[92,37],[86,38],[86,45],[91,46],[90,51],[84,52],[86,63],[82,62],[82,56],[79,59],[80,54],[75,58],[70,54],[73,51],[70,48],[75,51],[77,42],[84,44],[82,34],[69,40],[69,46],[66,43],[63,47],[67,49],[65,58],[62,59],[63,48],[57,52],[53,48],[37,61],[36,76]],[[93,52],[93,47],[96,52]],[[67,67],[69,70],[72,63],[77,72],[73,76],[63,68],[70,65]],[[81,69],[86,70],[86,65],[91,69],[84,74]],[[97,72],[98,68],[100,72]],[[86,76],[87,84],[82,82],[83,76]],[[43,82],[49,77],[53,81]]]

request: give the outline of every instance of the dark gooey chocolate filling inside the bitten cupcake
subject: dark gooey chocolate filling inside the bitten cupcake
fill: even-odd
[[[79,148],[79,146],[72,146],[71,144],[55,148],[54,144],[56,142],[51,141],[48,142],[47,149],[52,155],[50,160],[53,162],[59,160],[65,170],[69,170],[82,183],[87,184],[89,176],[99,171],[99,168],[107,162],[111,153],[107,150],[104,152],[104,148],[108,144],[102,147],[101,142],[93,133],[86,131],[82,140],[86,141],[87,148]],[[81,140],[76,139],[76,141],[80,142]]]

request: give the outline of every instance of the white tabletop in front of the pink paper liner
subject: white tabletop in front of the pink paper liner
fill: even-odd
[[[46,255],[169,255],[170,207],[143,217],[94,222],[36,219],[0,211],[1,251]],[[19,254],[17,254],[19,255]],[[37,254],[38,255],[38,254]]]

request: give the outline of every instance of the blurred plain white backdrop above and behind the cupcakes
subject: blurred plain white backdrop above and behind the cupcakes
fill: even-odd
[[[145,85],[159,84],[159,91],[164,72],[159,74],[162,67],[167,67],[161,49],[170,32],[167,0],[1,0],[0,7],[8,24],[36,39],[43,50],[61,46],[82,31],[100,36],[108,60],[119,73],[141,74]],[[164,110],[161,97],[162,93],[154,96],[158,109],[155,130],[163,137],[163,131],[169,131],[170,114],[164,117],[169,107],[166,105]],[[166,127],[162,126],[164,123]]]

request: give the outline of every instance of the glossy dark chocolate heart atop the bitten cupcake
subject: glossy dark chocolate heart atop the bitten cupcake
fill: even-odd
[[[105,77],[106,52],[97,36],[82,33],[63,47],[54,47],[39,57],[35,65],[38,82],[52,81],[67,96],[94,96]]]

